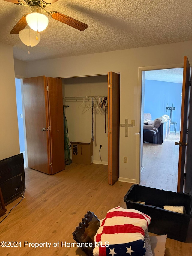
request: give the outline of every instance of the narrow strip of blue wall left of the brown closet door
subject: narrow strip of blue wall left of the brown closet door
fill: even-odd
[[[17,101],[17,118],[19,126],[19,146],[20,152],[25,151],[25,140],[24,140],[24,128],[23,128],[23,118],[21,118],[22,110],[22,95],[21,95],[21,80],[15,79],[16,87],[16,101]]]

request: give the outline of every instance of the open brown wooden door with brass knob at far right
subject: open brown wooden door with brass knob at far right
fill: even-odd
[[[187,56],[184,56],[180,141],[175,142],[175,145],[179,145],[177,192],[183,192],[183,187],[184,187],[187,133],[188,133],[187,121],[188,121],[188,112],[189,112],[188,111],[189,110],[189,92],[190,92],[190,64]]]

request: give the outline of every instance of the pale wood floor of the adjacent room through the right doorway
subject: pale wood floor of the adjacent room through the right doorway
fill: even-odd
[[[171,132],[162,145],[143,143],[143,171],[140,185],[177,191],[179,132]]]

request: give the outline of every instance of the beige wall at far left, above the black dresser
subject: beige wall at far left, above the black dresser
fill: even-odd
[[[0,160],[19,154],[13,48],[0,43]]]

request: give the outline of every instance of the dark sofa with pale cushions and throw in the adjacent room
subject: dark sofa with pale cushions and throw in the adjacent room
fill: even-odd
[[[143,120],[143,142],[162,144],[170,134],[171,119],[163,115],[152,120],[150,113],[144,114]]]

